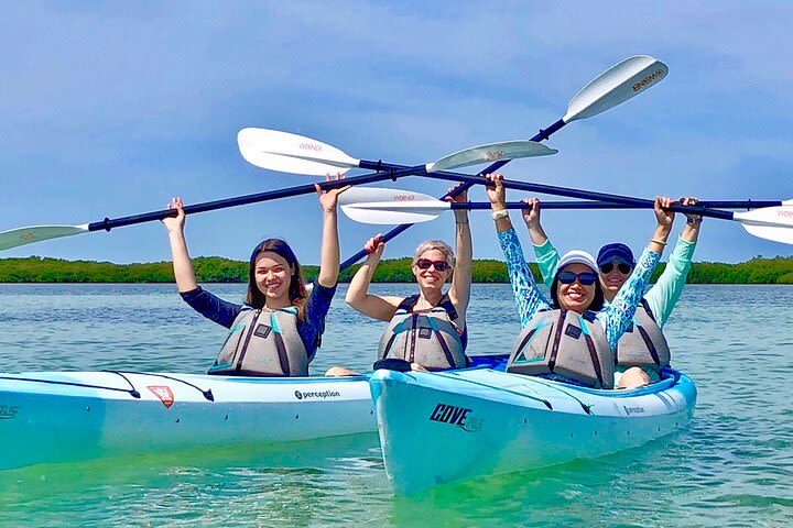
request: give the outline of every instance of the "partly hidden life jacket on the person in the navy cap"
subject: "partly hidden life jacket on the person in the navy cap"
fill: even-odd
[[[633,322],[617,343],[618,366],[669,366],[672,354],[650,305],[642,299]]]

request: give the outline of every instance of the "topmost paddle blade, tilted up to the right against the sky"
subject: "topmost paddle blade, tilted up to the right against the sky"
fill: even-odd
[[[666,77],[669,68],[649,55],[636,55],[610,67],[571,100],[565,123],[587,119],[647,91]]]

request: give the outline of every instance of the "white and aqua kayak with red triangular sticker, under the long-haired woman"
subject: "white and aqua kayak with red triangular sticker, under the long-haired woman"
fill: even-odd
[[[0,469],[376,430],[366,376],[0,375]]]

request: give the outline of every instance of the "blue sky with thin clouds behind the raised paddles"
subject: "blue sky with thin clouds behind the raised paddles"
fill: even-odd
[[[405,164],[528,139],[591,78],[636,54],[666,63],[669,77],[557,132],[547,142],[556,156],[514,162],[504,174],[641,197],[793,198],[791,26],[793,6],[783,2],[9,3],[0,21],[0,231],[161,209],[176,195],[192,204],[312,182],[247,164],[236,144],[245,127]],[[393,185],[436,195],[447,187]],[[475,255],[500,257],[488,215],[471,216]],[[638,251],[654,226],[650,211],[543,218],[563,251],[616,240]],[[231,258],[282,237],[309,264],[319,222],[306,196],[197,215],[187,237],[194,256]],[[344,255],[382,230],[346,218],[340,229]],[[398,238],[387,257],[452,234],[453,218],[442,217]],[[0,254],[26,255],[170,257],[156,222]],[[791,249],[707,220],[695,260],[754,255]]]

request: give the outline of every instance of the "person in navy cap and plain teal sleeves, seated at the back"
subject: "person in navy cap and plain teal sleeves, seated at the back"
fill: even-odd
[[[697,200],[681,198],[680,204],[694,206]],[[540,223],[540,210],[539,201],[534,202],[523,220],[529,229],[540,273],[550,286],[560,257]],[[686,224],[669,264],[644,295],[633,317],[633,324],[618,343],[615,381],[619,388],[634,388],[658,382],[661,369],[670,364],[670,348],[662,328],[685,287],[700,223],[699,215],[686,215]],[[636,260],[626,244],[611,243],[600,248],[597,264],[605,304],[608,306],[630,276]]]

